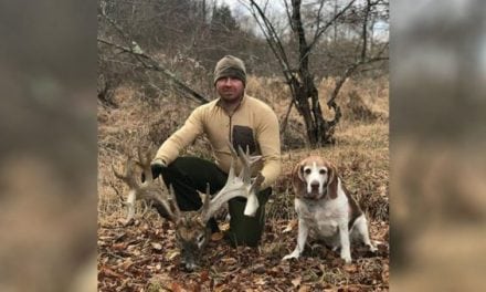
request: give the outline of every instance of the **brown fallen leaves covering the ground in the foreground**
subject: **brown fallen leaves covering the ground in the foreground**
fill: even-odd
[[[388,291],[389,249],[377,253],[353,247],[353,261],[345,264],[337,252],[307,247],[298,260],[281,261],[296,243],[293,222],[273,221],[260,248],[231,248],[219,233],[209,242],[201,268],[179,268],[173,230],[157,220],[133,226],[99,227],[99,291]],[[290,227],[292,226],[292,227]],[[388,226],[371,225],[371,233],[388,236]],[[285,230],[285,232],[283,232]],[[378,232],[380,231],[380,232]]]

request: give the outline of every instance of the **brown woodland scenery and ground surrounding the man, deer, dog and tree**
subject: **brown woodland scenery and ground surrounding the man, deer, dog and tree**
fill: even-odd
[[[376,24],[388,24],[388,2],[378,1],[368,20],[364,18],[367,1],[355,1],[352,9],[335,20],[336,13],[348,2],[302,3],[308,40],[315,35],[313,25],[323,29],[323,23],[329,23],[310,51],[308,67],[326,121],[336,119],[336,111],[328,101],[346,72],[356,66],[335,96],[341,117],[331,132],[332,138],[320,145],[311,143],[303,116],[289,107],[292,87],[250,13],[249,1],[236,2],[233,8],[224,1],[102,3],[98,34],[101,291],[389,289],[388,31],[383,27],[377,29]],[[274,3],[264,4],[262,9],[266,9],[268,21],[279,34],[288,64],[298,64],[302,60],[298,39],[285,21],[285,9],[278,10]],[[288,9],[292,12],[292,8]],[[379,51],[381,59],[357,66],[356,63],[363,60],[363,25],[368,32],[366,49],[371,53]],[[182,125],[201,103],[201,97],[194,97],[187,87],[202,98],[214,98],[212,71],[225,54],[245,61],[246,92],[270,104],[281,121],[283,174],[267,205],[262,246],[231,249],[224,240],[215,239],[207,249],[201,269],[187,273],[177,264],[179,253],[171,226],[155,211],[142,215],[140,205],[135,225],[122,225],[126,216],[122,202],[127,189],[115,178],[112,166],[120,167],[126,155],[134,154],[137,146],[158,148]],[[298,65],[289,70],[295,70],[292,74],[299,81],[305,79]],[[281,262],[282,257],[294,249],[297,234],[290,169],[309,154],[323,155],[338,166],[370,218],[371,237],[381,242],[379,252],[370,254],[358,244],[352,252],[355,262],[345,265],[339,254],[315,247],[299,261]],[[184,155],[210,158],[208,142],[199,139]],[[221,222],[221,227],[228,228],[228,223]]]

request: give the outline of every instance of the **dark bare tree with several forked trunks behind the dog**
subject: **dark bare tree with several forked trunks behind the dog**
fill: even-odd
[[[379,4],[388,7],[385,1],[371,1],[366,0],[363,4],[357,0],[350,0],[342,7],[338,7],[335,1],[332,6],[331,15],[329,19],[325,19],[326,12],[325,0],[315,2],[317,7],[317,13],[315,13],[315,20],[311,25],[306,27],[302,12],[302,1],[292,0],[284,1],[286,13],[288,18],[289,28],[292,30],[293,41],[297,44],[296,60],[290,63],[289,53],[284,46],[282,36],[278,35],[274,24],[270,21],[265,9],[262,8],[256,1],[249,0],[250,11],[254,19],[258,23],[268,46],[274,53],[275,58],[281,65],[283,75],[288,84],[292,93],[292,101],[289,104],[288,113],[292,106],[295,105],[298,113],[304,118],[306,125],[307,138],[311,147],[317,147],[334,142],[335,127],[338,124],[341,112],[336,103],[336,97],[339,94],[340,88],[345,82],[357,71],[358,67],[364,64],[369,64],[377,61],[388,60],[388,56],[383,56],[385,49],[388,49],[388,42],[383,44],[381,50],[378,50],[373,56],[369,56],[369,21],[370,13]],[[362,2],[362,1],[361,1]],[[335,39],[336,31],[339,21],[345,21],[349,18],[355,18],[361,23],[360,45],[359,53],[355,56],[355,61],[347,64],[345,70],[339,74],[335,88],[331,91],[330,96],[327,98],[327,106],[335,112],[334,118],[327,121],[323,116],[321,105],[319,102],[319,94],[314,81],[314,74],[310,71],[310,56],[319,40],[325,35],[328,29],[334,29]],[[310,28],[310,29],[309,29]],[[314,30],[314,31],[311,31]],[[287,117],[282,123],[282,133],[285,132],[287,124]]]

